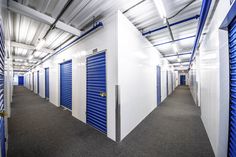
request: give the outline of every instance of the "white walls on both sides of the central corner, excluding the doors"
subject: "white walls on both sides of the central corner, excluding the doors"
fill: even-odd
[[[151,46],[121,12],[104,19],[103,24],[104,28],[91,33],[74,46],[33,69],[34,91],[37,91],[39,70],[40,96],[45,96],[44,70],[49,68],[49,101],[59,107],[60,63],[72,60],[72,116],[86,123],[86,57],[91,55],[94,49],[105,51],[107,136],[116,140],[116,85],[120,86],[123,139],[157,106],[156,66],[161,66],[162,73],[170,69],[165,59],[164,64],[161,61],[162,56],[158,50]],[[161,74],[162,101],[166,98],[164,91],[167,88],[167,80],[163,76],[166,75]]]

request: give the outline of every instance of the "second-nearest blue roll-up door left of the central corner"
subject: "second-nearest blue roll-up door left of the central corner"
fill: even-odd
[[[72,110],[72,61],[60,65],[60,104]]]

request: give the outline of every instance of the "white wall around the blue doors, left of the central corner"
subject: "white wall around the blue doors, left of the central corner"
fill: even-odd
[[[60,106],[60,63],[72,59],[72,115],[86,122],[86,56],[93,49],[107,53],[107,136],[115,140],[115,85],[117,84],[117,15],[105,19],[104,28],[90,34],[76,45],[59,53],[36,69],[49,67],[49,101]],[[36,70],[37,71],[37,70]],[[37,73],[37,72],[35,72]],[[36,75],[35,75],[36,76]],[[40,86],[45,91],[44,74]],[[42,80],[43,79],[43,80]],[[35,83],[36,78],[35,78]],[[35,89],[37,91],[37,89]],[[44,96],[45,93],[40,93]]]

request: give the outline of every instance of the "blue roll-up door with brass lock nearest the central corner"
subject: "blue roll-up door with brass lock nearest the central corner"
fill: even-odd
[[[87,57],[87,123],[107,133],[106,53]]]

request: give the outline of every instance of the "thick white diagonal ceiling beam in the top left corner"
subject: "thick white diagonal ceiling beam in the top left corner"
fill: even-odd
[[[3,4],[3,6],[5,8],[8,8],[9,10],[11,10],[12,12],[15,12],[15,13],[19,13],[21,15],[24,15],[24,16],[27,16],[27,17],[30,17],[32,19],[35,19],[37,21],[40,21],[42,23],[45,23],[45,24],[48,24],[48,25],[51,25],[54,23],[55,19],[52,18],[51,16],[48,16],[46,14],[43,14],[37,10],[34,10],[30,7],[27,7],[25,5],[22,5],[18,2],[15,2],[13,0],[9,0],[9,6],[7,7],[7,4]],[[61,22],[61,21],[58,21],[56,23],[56,27],[65,31],[65,32],[68,32],[68,33],[71,33],[73,35],[76,35],[76,36],[79,36],[81,35],[81,31],[78,30],[77,28],[75,27],[72,27],[64,22]]]

